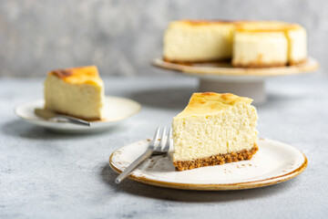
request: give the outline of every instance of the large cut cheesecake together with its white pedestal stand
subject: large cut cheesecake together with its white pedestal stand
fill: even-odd
[[[159,68],[200,78],[201,92],[266,100],[266,78],[318,68],[307,56],[306,30],[282,21],[178,20],[163,36]]]

